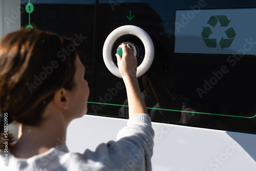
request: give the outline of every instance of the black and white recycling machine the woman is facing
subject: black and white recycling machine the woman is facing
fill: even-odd
[[[255,1],[0,0],[0,10],[0,37],[23,27],[76,39],[67,51],[86,67],[90,97],[69,126],[71,152],[115,140],[126,125],[115,57],[124,42],[153,121],[153,170],[256,169]]]

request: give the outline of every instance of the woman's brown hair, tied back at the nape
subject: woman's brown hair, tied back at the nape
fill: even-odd
[[[74,86],[72,41],[46,31],[22,29],[0,41],[0,113],[8,120],[38,125],[49,101],[60,88]],[[73,46],[73,45],[72,45]],[[74,46],[73,46],[74,47]],[[0,114],[1,115],[1,114]],[[0,123],[0,149],[4,149]],[[2,139],[2,140],[1,140]],[[12,140],[9,139],[9,143]]]

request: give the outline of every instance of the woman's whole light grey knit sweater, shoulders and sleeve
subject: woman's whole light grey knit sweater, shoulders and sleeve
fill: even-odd
[[[86,149],[83,154],[69,152],[66,145],[58,145],[48,152],[29,159],[18,159],[8,154],[5,166],[4,151],[0,151],[0,170],[152,170],[154,131],[151,119],[138,114],[127,121],[119,131],[117,141],[98,145],[95,152]]]

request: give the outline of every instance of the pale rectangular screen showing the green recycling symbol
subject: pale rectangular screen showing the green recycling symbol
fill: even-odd
[[[176,10],[174,52],[256,55],[253,18],[256,8]]]

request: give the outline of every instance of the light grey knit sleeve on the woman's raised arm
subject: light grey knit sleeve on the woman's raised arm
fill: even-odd
[[[100,144],[95,152],[86,150],[84,159],[93,160],[102,170],[152,170],[154,130],[146,114],[137,114],[117,135],[117,141]]]

